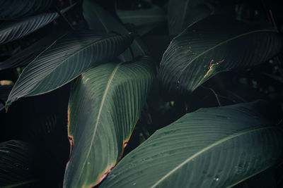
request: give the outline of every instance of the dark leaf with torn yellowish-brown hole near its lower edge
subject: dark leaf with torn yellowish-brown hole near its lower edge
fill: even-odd
[[[169,95],[191,93],[216,73],[258,65],[282,50],[275,29],[213,15],[173,39],[161,61],[161,83]]]

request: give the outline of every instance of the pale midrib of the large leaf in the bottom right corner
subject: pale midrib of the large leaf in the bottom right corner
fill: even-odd
[[[210,144],[209,146],[205,147],[204,149],[198,151],[197,153],[195,153],[194,155],[190,156],[190,158],[187,158],[185,161],[183,161],[183,163],[180,163],[177,167],[173,168],[173,170],[171,170],[169,173],[167,173],[166,175],[163,175],[163,177],[161,177],[160,180],[158,180],[154,185],[151,186],[151,188],[156,187],[158,184],[160,184],[161,182],[163,182],[163,180],[165,180],[167,177],[169,177],[170,175],[172,175],[173,173],[175,173],[175,171],[177,171],[178,169],[182,168],[183,165],[185,165],[186,163],[190,162],[193,158],[196,158],[197,156],[200,156],[202,153],[204,153],[205,151],[208,151],[209,149],[212,149],[214,146],[218,146],[230,139],[233,139],[235,137],[239,137],[243,134],[247,134],[250,132],[254,132],[254,131],[258,131],[258,130],[265,130],[265,129],[271,129],[272,127],[268,126],[268,127],[258,127],[252,130],[246,130],[243,132],[239,132],[237,134],[232,134],[229,137],[225,137],[223,139],[220,139],[217,142],[214,142],[212,144]]]

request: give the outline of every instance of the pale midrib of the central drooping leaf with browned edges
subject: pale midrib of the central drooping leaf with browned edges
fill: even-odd
[[[101,112],[102,112],[102,109],[103,109],[103,106],[104,106],[104,103],[105,103],[105,98],[106,98],[106,96],[108,94],[108,90],[109,90],[110,84],[111,84],[111,82],[113,80],[113,77],[114,77],[115,73],[117,73],[118,68],[120,68],[120,65],[122,65],[122,63],[119,63],[119,64],[116,65],[116,67],[112,71],[112,74],[110,75],[108,83],[107,83],[107,85],[105,87],[105,91],[103,93],[103,98],[101,100],[101,103],[100,103],[100,106],[99,106],[99,110],[98,110],[98,117],[96,119],[96,125],[94,125],[93,136],[91,137],[91,145],[88,147],[88,153],[86,153],[86,160],[83,162],[83,167],[81,168],[81,173],[79,175],[78,180],[81,179],[81,175],[83,174],[83,168],[86,166],[86,161],[88,160],[88,156],[91,153],[91,148],[92,148],[92,145],[93,145],[93,141],[94,141],[94,139],[96,137],[96,130],[97,130],[98,123],[99,123],[100,116],[101,116]]]

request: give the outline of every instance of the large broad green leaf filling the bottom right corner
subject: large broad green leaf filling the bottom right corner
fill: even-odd
[[[187,113],[118,163],[100,187],[231,187],[274,165],[283,130],[262,101]]]

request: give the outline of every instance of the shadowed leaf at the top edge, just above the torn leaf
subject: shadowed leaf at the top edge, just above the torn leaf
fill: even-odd
[[[187,26],[213,13],[207,0],[170,0],[168,3],[168,28],[170,35],[178,35]]]

